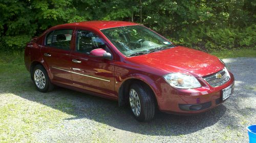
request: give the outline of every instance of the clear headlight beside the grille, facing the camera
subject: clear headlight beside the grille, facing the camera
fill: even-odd
[[[163,77],[170,85],[178,89],[195,89],[202,86],[196,77],[187,74],[170,73]]]

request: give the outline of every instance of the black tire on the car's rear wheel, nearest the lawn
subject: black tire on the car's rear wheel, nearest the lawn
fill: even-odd
[[[45,85],[44,86],[40,86],[40,85],[37,85],[36,83],[36,77],[35,77],[35,72],[42,72],[42,74],[44,75],[44,83]],[[33,69],[33,72],[32,72],[32,75],[31,75],[32,79],[33,79],[33,82],[35,84],[35,87],[36,89],[39,91],[39,92],[49,92],[49,91],[52,91],[54,89],[54,85],[52,84],[52,82],[50,81],[50,78],[45,70],[45,68],[42,66],[42,65],[36,65]],[[38,81],[38,80],[37,80]],[[40,87],[40,88],[39,88]]]

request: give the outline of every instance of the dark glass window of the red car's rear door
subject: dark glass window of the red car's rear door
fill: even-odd
[[[55,30],[46,37],[46,45],[69,50],[73,30]]]

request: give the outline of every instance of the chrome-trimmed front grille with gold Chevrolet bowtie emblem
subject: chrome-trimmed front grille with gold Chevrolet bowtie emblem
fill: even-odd
[[[220,76],[221,75],[221,76]],[[225,84],[230,78],[226,73],[226,70],[223,69],[215,74],[211,74],[203,77],[203,79],[211,85],[211,87],[219,87],[220,85]]]

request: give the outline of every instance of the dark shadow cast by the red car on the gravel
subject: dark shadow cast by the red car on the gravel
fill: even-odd
[[[236,60],[231,61],[231,63],[232,62],[236,62]],[[236,70],[233,71],[236,72]],[[248,74],[250,73],[245,73],[241,76],[246,77]],[[235,73],[235,76],[237,76],[237,73]],[[246,81],[246,79],[242,77],[239,77],[238,79],[238,83],[241,83],[241,85]],[[59,87],[49,93],[39,93],[34,88],[32,81],[26,78],[24,81],[20,81],[20,84],[18,85],[24,88],[28,88],[29,86],[29,92],[16,91],[13,94],[74,116],[74,118],[65,120],[89,119],[120,130],[146,135],[170,136],[193,133],[216,124],[224,115],[226,116],[227,111],[227,108],[224,105],[220,105],[195,116],[177,116],[157,112],[153,121],[139,123],[132,117],[132,112],[128,107],[118,107],[116,101]],[[229,100],[231,102],[234,99]],[[62,104],[69,104],[69,109],[67,109],[65,105],[60,106]]]

